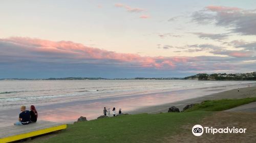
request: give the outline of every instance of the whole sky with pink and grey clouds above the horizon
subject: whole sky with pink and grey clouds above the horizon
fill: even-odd
[[[256,71],[255,1],[1,1],[0,78]]]

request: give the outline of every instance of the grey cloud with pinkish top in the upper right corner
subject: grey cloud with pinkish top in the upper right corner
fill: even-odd
[[[214,23],[233,33],[256,35],[256,9],[244,10],[236,7],[207,6],[193,13],[193,21],[200,24]]]

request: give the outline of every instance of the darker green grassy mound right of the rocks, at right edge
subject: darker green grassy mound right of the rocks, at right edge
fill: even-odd
[[[187,111],[223,111],[230,108],[234,108],[243,104],[255,102],[256,98],[244,98],[244,99],[222,99],[222,100],[207,100],[200,104],[196,104]]]

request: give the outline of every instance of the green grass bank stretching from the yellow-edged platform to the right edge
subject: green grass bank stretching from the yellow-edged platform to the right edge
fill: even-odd
[[[256,101],[256,98],[204,101],[180,113],[135,114],[68,125],[66,130],[30,142],[168,142],[169,137],[201,123],[202,118]],[[189,126],[189,130],[182,127]],[[191,126],[191,127],[190,127]]]

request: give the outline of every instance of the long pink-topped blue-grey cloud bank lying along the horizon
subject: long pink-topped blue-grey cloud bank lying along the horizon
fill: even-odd
[[[173,48],[170,45],[159,46],[163,49]],[[113,74],[112,77],[116,77],[119,72],[122,72],[124,75],[132,77],[137,77],[139,74],[142,77],[150,75],[162,77],[163,75],[172,75],[170,73],[180,73],[178,75],[181,75],[181,73],[191,73],[191,71],[214,72],[236,69],[247,71],[251,70],[251,67],[256,67],[253,66],[254,63],[243,62],[254,59],[254,57],[248,57],[250,54],[248,52],[222,51],[214,45],[207,44],[187,45],[187,47],[203,50],[215,49],[212,53],[230,55],[231,57],[143,57],[138,54],[97,49],[72,41],[11,37],[0,39],[0,73],[2,75],[10,73],[18,75],[15,72],[28,70],[26,72],[33,72],[33,75],[36,75],[37,72],[44,75],[53,71],[100,75],[97,74],[98,72],[102,75]],[[119,77],[124,76],[123,74]]]

